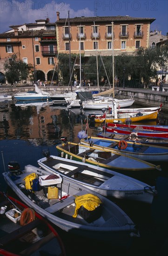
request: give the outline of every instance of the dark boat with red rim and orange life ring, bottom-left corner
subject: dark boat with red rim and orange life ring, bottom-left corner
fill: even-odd
[[[0,255],[66,256],[56,229],[34,209],[0,192]]]

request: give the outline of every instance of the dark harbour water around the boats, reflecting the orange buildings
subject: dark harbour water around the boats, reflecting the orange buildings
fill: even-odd
[[[3,102],[4,106],[0,104],[0,190],[8,190],[9,193],[12,191],[7,188],[2,176],[8,162],[19,162],[20,169],[27,164],[38,166],[37,160],[42,157],[43,149],[49,149],[51,155],[58,155],[56,145],[60,143],[61,136],[79,142],[78,133],[87,128],[86,116],[80,109],[69,111],[66,107],[51,106],[47,102],[39,102],[36,106],[15,103],[7,101]],[[157,122],[146,124],[158,123],[168,125],[166,113],[160,112]],[[88,135],[96,135],[98,132],[97,127],[89,125]],[[114,200],[137,225],[140,237],[133,238],[128,248],[117,248],[113,243],[100,243],[94,238],[88,241],[82,236],[75,237],[58,230],[65,243],[67,256],[168,255],[168,170],[167,163],[156,164],[161,165],[162,171],[148,177],[158,190],[152,205]]]

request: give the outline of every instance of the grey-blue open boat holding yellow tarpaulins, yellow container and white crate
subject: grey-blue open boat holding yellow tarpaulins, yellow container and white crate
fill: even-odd
[[[114,202],[76,182],[32,165],[13,175],[13,170],[3,173],[16,195],[69,234],[127,245],[137,233],[134,222]]]

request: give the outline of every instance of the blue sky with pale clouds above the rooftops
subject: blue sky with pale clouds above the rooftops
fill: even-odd
[[[34,23],[38,19],[56,21],[60,18],[92,16],[124,16],[155,18],[150,30],[158,29],[162,34],[168,32],[167,0],[1,0],[0,33],[9,26]]]

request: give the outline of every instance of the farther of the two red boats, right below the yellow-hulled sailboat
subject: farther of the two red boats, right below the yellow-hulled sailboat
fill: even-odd
[[[161,126],[161,125],[137,125],[137,124],[119,124],[119,123],[108,123],[108,127],[120,127],[120,128],[133,128],[137,131],[141,130],[150,130],[150,131],[158,131],[158,132],[167,132],[168,133],[168,126]]]

